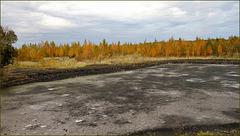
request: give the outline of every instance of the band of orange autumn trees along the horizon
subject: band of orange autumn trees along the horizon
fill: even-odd
[[[41,61],[44,57],[70,57],[82,60],[99,60],[115,58],[120,55],[141,55],[143,57],[193,57],[193,56],[239,56],[239,37],[231,36],[228,39],[216,38],[204,40],[196,38],[194,41],[185,41],[181,38],[168,41],[132,43],[107,43],[105,39],[98,45],[85,40],[80,42],[56,45],[54,41],[40,42],[39,44],[22,45],[17,49],[17,61]]]

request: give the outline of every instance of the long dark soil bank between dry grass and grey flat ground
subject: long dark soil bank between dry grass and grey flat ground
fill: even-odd
[[[34,82],[48,82],[54,80],[62,80],[67,78],[105,74],[113,72],[121,72],[127,70],[135,70],[156,66],[161,64],[239,64],[239,59],[179,59],[179,60],[162,60],[148,61],[133,64],[104,64],[104,65],[89,65],[77,69],[48,69],[48,70],[22,70],[18,69],[15,73],[24,74],[26,78],[5,77],[1,79],[1,88],[17,86]]]

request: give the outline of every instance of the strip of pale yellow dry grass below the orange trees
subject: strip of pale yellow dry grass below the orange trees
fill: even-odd
[[[224,57],[142,57],[139,55],[126,55],[118,56],[115,58],[109,58],[104,60],[83,60],[76,61],[75,58],[68,57],[54,57],[54,58],[44,58],[40,62],[31,62],[31,61],[21,61],[15,62],[13,65],[6,66],[7,68],[15,67],[22,69],[68,69],[68,68],[78,68],[84,67],[92,64],[131,64],[131,63],[140,63],[146,61],[161,61],[161,60],[176,60],[176,59],[226,59]],[[239,59],[239,58],[227,58],[227,59]]]

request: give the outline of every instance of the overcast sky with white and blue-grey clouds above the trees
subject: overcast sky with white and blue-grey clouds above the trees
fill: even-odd
[[[15,47],[228,38],[239,36],[239,1],[1,1],[1,25],[17,34]]]

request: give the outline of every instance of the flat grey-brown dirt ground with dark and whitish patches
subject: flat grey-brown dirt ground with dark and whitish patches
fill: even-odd
[[[1,134],[112,135],[239,125],[239,65],[165,64],[2,90]]]

